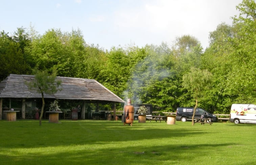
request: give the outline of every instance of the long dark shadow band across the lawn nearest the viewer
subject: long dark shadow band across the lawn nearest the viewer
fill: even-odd
[[[122,148],[77,148],[77,150],[63,150],[61,153],[55,153],[49,150],[46,155],[26,154],[22,156],[12,156],[6,158],[8,160],[2,163],[14,162],[14,164],[93,164],[93,165],[120,165],[120,164],[164,164],[164,162],[172,162],[180,164],[180,162],[191,162],[195,159],[210,157],[209,151],[215,147],[225,147],[233,145],[232,143],[221,144],[202,144],[202,145],[155,145],[155,146],[124,146]],[[201,163],[204,160],[200,161]],[[198,164],[201,164],[198,163]],[[206,164],[207,162],[205,162]],[[211,162],[212,163],[212,162]]]

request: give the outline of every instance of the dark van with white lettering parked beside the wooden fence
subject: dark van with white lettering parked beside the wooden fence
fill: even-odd
[[[176,111],[176,120],[181,120],[183,122],[187,120],[192,120],[194,108],[189,107],[178,107]],[[202,119],[211,119],[211,122],[217,121],[217,116],[207,112],[202,108],[196,108],[194,118],[202,118]]]

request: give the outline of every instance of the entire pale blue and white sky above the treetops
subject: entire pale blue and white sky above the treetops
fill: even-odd
[[[87,44],[112,47],[172,46],[191,35],[203,48],[209,32],[221,23],[232,25],[242,0],[0,0],[0,31],[9,35],[30,28],[82,31]]]

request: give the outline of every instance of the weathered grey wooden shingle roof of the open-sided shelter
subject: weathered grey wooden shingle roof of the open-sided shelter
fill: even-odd
[[[99,100],[120,102],[124,101],[102,84],[92,79],[56,77],[61,80],[61,90],[55,94],[45,94],[45,98],[68,100]],[[29,90],[27,84],[34,80],[31,75],[10,74],[0,82],[0,98],[42,98],[41,93]]]

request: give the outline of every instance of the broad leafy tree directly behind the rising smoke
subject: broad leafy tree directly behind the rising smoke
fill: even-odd
[[[137,61],[127,82],[129,97],[136,103],[152,104],[159,111],[173,111],[178,83],[171,50],[166,43],[144,47],[144,58]]]

